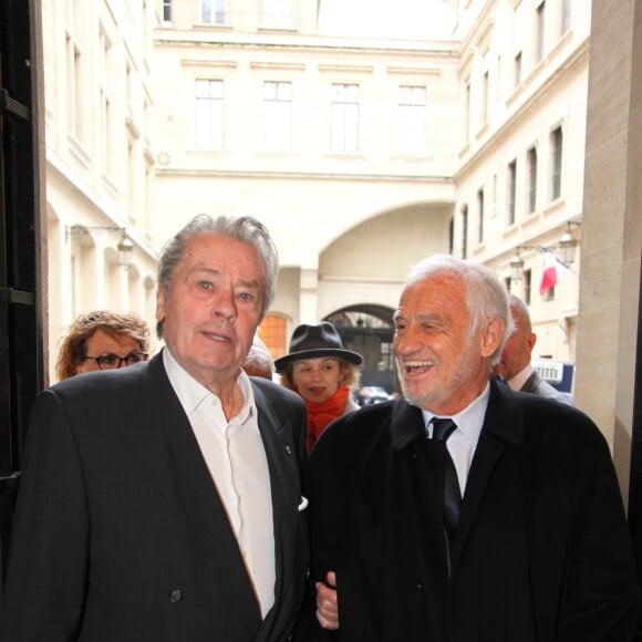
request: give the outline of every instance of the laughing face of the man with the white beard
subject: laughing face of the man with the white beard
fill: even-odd
[[[464,410],[486,386],[503,324],[495,320],[472,332],[466,287],[456,275],[437,273],[406,286],[394,336],[404,396],[436,414]]]

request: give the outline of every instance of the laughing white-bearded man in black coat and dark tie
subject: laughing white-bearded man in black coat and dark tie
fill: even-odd
[[[640,591],[609,446],[574,407],[490,376],[512,325],[503,282],[429,257],[394,323],[403,397],[340,417],[308,459],[310,574],[334,571],[336,594],[311,593],[297,640],[630,642]]]

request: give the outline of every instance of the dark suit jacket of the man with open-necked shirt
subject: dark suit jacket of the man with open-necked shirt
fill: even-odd
[[[12,534],[2,642],[288,640],[308,563],[300,397],[252,379],[268,458],[276,603],[262,621],[161,355],[39,395]]]

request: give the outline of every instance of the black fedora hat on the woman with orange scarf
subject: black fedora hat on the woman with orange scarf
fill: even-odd
[[[360,365],[363,356],[358,352],[345,350],[341,336],[332,323],[323,321],[317,325],[301,323],[294,328],[290,339],[290,352],[275,360],[277,372],[281,372],[292,361],[301,359],[318,359],[320,356],[336,356]]]

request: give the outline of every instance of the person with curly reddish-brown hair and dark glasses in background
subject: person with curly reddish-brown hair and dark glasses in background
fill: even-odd
[[[96,310],[81,314],[63,338],[55,374],[59,381],[94,372],[115,370],[147,361],[149,327],[136,314]]]

